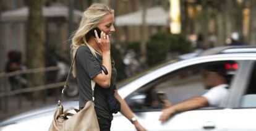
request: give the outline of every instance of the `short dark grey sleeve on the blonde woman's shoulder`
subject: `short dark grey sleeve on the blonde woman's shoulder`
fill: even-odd
[[[100,62],[96,60],[96,57],[93,56],[88,46],[80,46],[79,49],[77,49],[76,58],[76,64],[82,66],[91,79],[101,73]]]

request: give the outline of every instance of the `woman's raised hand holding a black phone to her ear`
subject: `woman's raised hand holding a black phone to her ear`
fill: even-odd
[[[110,51],[110,40],[109,40],[109,35],[106,35],[106,33],[102,32],[100,33],[100,38],[96,32],[96,30],[94,30],[94,33],[95,33],[95,40],[96,40],[96,43],[98,44],[100,50],[102,53],[106,53],[108,51]]]

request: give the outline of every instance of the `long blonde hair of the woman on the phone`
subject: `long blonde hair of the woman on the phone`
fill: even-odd
[[[70,54],[71,59],[74,59],[75,53],[79,46],[85,44],[92,51],[93,55],[96,56],[95,49],[87,43],[85,35],[92,30],[92,28],[96,27],[99,21],[105,17],[107,14],[114,14],[114,10],[106,6],[105,4],[94,3],[88,9],[83,12],[83,17],[80,21],[79,28],[74,32],[72,37],[72,44],[70,45]],[[72,75],[74,77],[77,76],[75,71],[75,62],[72,67]]]

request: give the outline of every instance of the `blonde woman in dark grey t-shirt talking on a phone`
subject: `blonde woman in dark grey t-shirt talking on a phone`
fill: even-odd
[[[100,30],[98,33],[95,27]],[[137,130],[145,130],[114,85],[117,72],[110,51],[111,34],[114,32],[113,9],[95,3],[83,12],[71,44],[71,54],[75,57],[72,74],[79,86],[79,108],[94,96],[100,130],[110,130],[113,113],[117,111],[131,120]],[[91,80],[96,82],[93,95]]]

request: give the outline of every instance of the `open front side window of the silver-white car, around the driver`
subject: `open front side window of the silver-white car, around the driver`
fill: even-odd
[[[203,82],[203,72],[211,65],[224,66],[227,70],[225,77],[228,83],[239,67],[234,61],[208,62],[185,67],[139,88],[129,95],[126,101],[134,111],[141,111],[163,109],[163,99],[176,104],[194,96],[202,96],[208,91]]]

